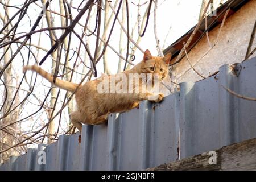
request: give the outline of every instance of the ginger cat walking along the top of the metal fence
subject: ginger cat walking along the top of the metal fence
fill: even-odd
[[[168,76],[168,64],[170,60],[171,53],[168,53],[164,57],[158,57],[151,56],[150,51],[146,50],[144,52],[143,60],[135,65],[132,69],[118,73],[116,75],[112,75],[112,78],[113,76],[114,78],[125,76],[126,79],[117,79],[114,81],[114,85],[117,85],[118,83],[122,84],[123,81],[129,81],[130,74],[143,75],[144,73],[147,75],[158,74],[156,77],[151,77],[152,86],[154,86],[155,78],[158,78],[159,81],[162,81],[165,77]],[[39,73],[39,75],[46,78],[46,80],[64,90],[74,92],[77,86],[79,86],[79,84],[60,80],[59,78],[56,78],[56,82],[53,83],[53,76],[36,65],[27,65],[23,67],[23,72],[26,72],[27,70],[32,70]],[[99,88],[102,88],[100,84],[102,84],[102,80],[104,79],[105,81],[109,81],[106,84],[107,86],[111,87],[111,85],[113,85],[113,82],[111,83],[110,81],[110,75],[101,76],[96,80],[88,81],[84,85],[81,85],[75,93],[77,110],[71,113],[70,118],[72,124],[77,127],[77,129],[79,129],[80,133],[82,130],[81,123],[89,125],[100,125],[101,123],[104,123],[108,120],[109,113],[122,113],[124,111],[134,109],[135,107],[138,107],[139,102],[143,100],[160,102],[164,97],[162,93],[153,94],[150,92],[150,90],[142,92],[142,78],[140,79],[139,84],[134,83],[131,89],[140,89],[139,93],[127,93],[126,91],[112,93],[109,88],[106,89],[110,92],[100,93]],[[148,82],[150,77],[146,76],[145,79],[146,82]],[[121,85],[120,88],[122,89],[122,87],[123,85]]]

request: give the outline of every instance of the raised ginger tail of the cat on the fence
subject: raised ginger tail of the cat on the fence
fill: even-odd
[[[38,67],[37,65],[26,65],[23,67],[23,73],[25,73],[27,70],[32,70],[35,71],[36,73],[38,73],[39,75],[41,75],[42,77],[46,78],[46,80],[48,80],[49,82],[51,82],[53,85],[64,89],[64,90],[68,90],[71,92],[75,92],[77,86],[79,86],[79,84],[75,84],[69,81],[65,81],[65,80],[60,80],[59,78],[56,78],[55,83],[53,82],[53,76],[44,71],[44,69]]]

